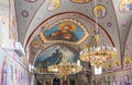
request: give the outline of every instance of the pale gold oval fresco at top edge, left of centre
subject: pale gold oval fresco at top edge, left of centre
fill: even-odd
[[[48,3],[47,10],[48,11],[54,11],[61,7],[61,0],[51,0]]]

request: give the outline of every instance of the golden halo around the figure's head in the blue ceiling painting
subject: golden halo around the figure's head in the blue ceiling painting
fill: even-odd
[[[63,31],[65,26],[69,27],[68,31],[76,31],[76,25],[72,22],[63,22],[59,24],[58,28]]]

